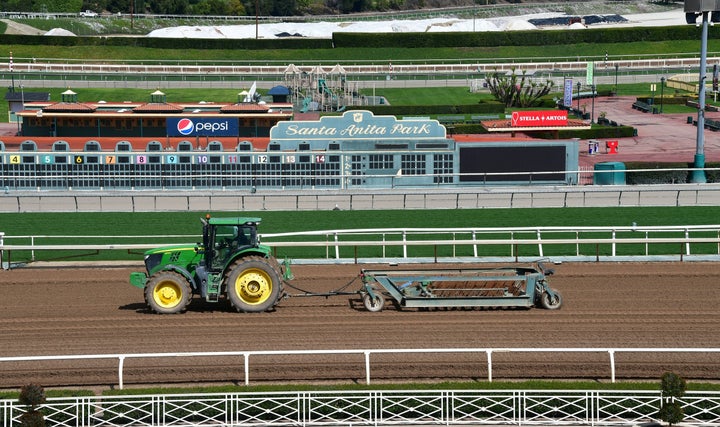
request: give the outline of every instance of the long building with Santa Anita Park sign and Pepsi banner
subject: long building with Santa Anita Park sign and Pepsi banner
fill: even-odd
[[[17,115],[19,134],[0,141],[6,191],[577,183],[577,141],[458,140],[424,117],[293,120],[289,104],[173,104],[159,91],[149,103],[80,103],[67,91]]]

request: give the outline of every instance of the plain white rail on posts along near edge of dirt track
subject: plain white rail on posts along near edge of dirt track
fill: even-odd
[[[130,359],[174,359],[196,357],[237,357],[242,358],[244,367],[244,384],[250,385],[250,359],[258,356],[307,356],[307,355],[362,355],[364,357],[365,383],[371,384],[371,356],[380,354],[476,354],[485,357],[487,361],[487,380],[493,381],[494,353],[607,353],[608,373],[611,382],[615,382],[616,365],[615,355],[618,353],[662,353],[662,354],[718,354],[720,348],[422,348],[422,349],[344,349],[344,350],[262,350],[262,351],[223,351],[223,352],[175,352],[175,353],[128,353],[128,354],[77,354],[56,356],[7,356],[0,357],[0,364],[10,362],[42,362],[42,361],[71,361],[78,366],[86,360],[117,360],[118,361],[118,387],[125,387],[124,366]],[[260,359],[258,363],[263,363]],[[348,358],[348,360],[355,360]],[[720,416],[720,414],[718,414]]]

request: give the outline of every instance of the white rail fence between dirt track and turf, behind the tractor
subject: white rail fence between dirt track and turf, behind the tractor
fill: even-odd
[[[720,260],[720,225],[339,229],[271,233],[261,237],[278,257],[287,257],[297,264],[532,262],[540,258],[595,262]],[[78,243],[83,240],[112,243]],[[151,243],[122,243],[126,240]],[[200,236],[190,235],[0,234],[0,265],[9,268],[12,253],[23,255],[23,251],[25,262],[35,261],[37,251],[94,251],[96,254],[103,250],[136,251],[137,260],[141,261],[144,250],[165,244],[195,244],[188,242],[201,240]]]

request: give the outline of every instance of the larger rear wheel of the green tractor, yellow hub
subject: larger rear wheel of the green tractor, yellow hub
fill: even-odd
[[[258,313],[277,305],[282,273],[277,261],[257,256],[235,261],[225,278],[228,298],[237,311]]]

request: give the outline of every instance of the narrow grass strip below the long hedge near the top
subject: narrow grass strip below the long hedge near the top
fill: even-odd
[[[246,64],[253,61],[295,63],[311,61],[339,61],[367,64],[386,64],[388,61],[422,60],[423,63],[445,62],[448,60],[473,60],[482,62],[524,62],[538,60],[597,61],[621,57],[634,59],[643,55],[656,56],[658,52],[672,57],[696,55],[700,49],[696,40],[668,40],[661,42],[596,43],[543,46],[496,46],[496,47],[439,47],[439,48],[335,48],[335,49],[157,49],[127,46],[52,46],[52,45],[4,45],[5,51],[12,51],[18,58],[56,58],[72,60],[118,60],[156,63],[158,61],[177,63],[182,61],[228,61]],[[720,40],[708,40],[708,55],[720,51]],[[598,72],[602,68],[598,65]]]

